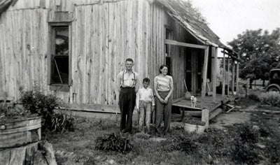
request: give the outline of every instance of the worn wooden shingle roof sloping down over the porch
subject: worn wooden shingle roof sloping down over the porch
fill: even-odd
[[[162,4],[167,13],[190,32],[197,40],[207,45],[228,48],[221,43],[220,38],[207,26],[200,13],[191,4],[183,0],[155,0]]]

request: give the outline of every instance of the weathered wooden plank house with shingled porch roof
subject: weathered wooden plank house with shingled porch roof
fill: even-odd
[[[20,99],[20,87],[36,84],[73,108],[115,111],[130,57],[152,82],[169,65],[174,103],[185,79],[202,108],[207,79],[217,98],[218,48],[234,56],[183,0],[0,0],[0,97]]]

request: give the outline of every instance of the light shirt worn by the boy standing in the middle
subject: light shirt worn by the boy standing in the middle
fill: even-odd
[[[136,107],[139,109],[139,103],[140,101],[147,101],[151,102],[152,106],[155,106],[155,98],[153,96],[153,90],[150,87],[141,87],[141,89],[138,90],[137,96],[136,96]]]

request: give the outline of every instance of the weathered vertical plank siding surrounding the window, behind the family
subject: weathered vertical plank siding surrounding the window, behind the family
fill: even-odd
[[[116,105],[116,75],[125,59],[140,79],[153,78],[165,63],[165,11],[146,0],[18,0],[0,17],[0,94],[19,99],[19,88],[48,85],[48,13],[73,12],[70,92],[52,92],[65,102]],[[182,52],[183,53],[183,52]],[[183,54],[182,54],[183,55]],[[181,75],[180,75],[181,76]]]

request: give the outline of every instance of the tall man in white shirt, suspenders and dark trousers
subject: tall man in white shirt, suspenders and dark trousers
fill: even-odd
[[[139,89],[139,75],[132,71],[132,59],[125,60],[125,70],[118,73],[117,85],[120,104],[120,131],[132,134],[132,114],[136,103],[136,93]]]

